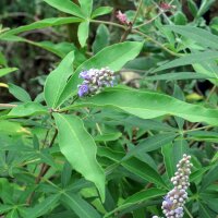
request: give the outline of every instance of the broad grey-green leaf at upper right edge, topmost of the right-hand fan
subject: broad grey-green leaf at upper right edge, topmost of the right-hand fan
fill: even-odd
[[[168,25],[165,26],[165,28],[181,34],[182,36],[187,37],[189,39],[192,39],[206,48],[209,47],[213,49],[218,49],[218,36],[203,28],[180,25]]]

